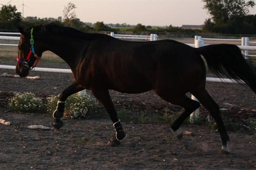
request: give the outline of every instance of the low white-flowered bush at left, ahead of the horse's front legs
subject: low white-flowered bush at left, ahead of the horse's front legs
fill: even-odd
[[[11,99],[9,99],[8,107],[12,111],[32,113],[42,110],[43,102],[33,93],[17,93]]]

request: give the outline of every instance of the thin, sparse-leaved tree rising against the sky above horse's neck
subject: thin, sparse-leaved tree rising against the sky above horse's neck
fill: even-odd
[[[63,22],[66,26],[69,26],[69,23],[76,19],[76,12],[74,9],[76,8],[76,5],[72,2],[69,2],[67,6],[63,9]]]

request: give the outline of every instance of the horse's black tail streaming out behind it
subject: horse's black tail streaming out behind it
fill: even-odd
[[[226,75],[239,82],[243,80],[256,93],[256,73],[244,59],[236,45],[218,44],[197,48],[209,69],[218,77]]]

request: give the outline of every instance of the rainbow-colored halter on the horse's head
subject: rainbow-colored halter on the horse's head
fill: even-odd
[[[30,36],[31,36],[31,39],[30,39],[31,48],[30,48],[30,52],[29,52],[28,55],[27,55],[26,61],[22,61],[22,60],[20,60],[20,59],[17,57],[17,61],[25,66],[24,69],[30,69],[30,70],[34,70],[34,68],[37,66],[37,64],[38,64],[38,62],[39,62],[39,59],[40,59],[40,57],[37,56],[37,54],[35,53],[35,50],[34,50],[33,30],[34,30],[34,28],[31,29],[31,34],[30,34]],[[29,60],[30,60],[30,56],[31,56],[32,53],[33,53],[33,56],[36,57],[37,62],[36,62],[36,64],[33,64],[32,67],[30,67],[30,66],[28,65],[28,62],[29,62]]]

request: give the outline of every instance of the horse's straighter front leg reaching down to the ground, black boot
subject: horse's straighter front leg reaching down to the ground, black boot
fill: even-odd
[[[126,137],[125,132],[123,131],[122,124],[120,120],[117,118],[117,113],[114,108],[114,104],[111,100],[111,97],[109,95],[108,90],[103,89],[91,89],[92,94],[102,103],[102,105],[105,107],[110,119],[114,123],[113,126],[116,131],[116,140],[121,141]],[[110,141],[112,142],[112,141]]]

